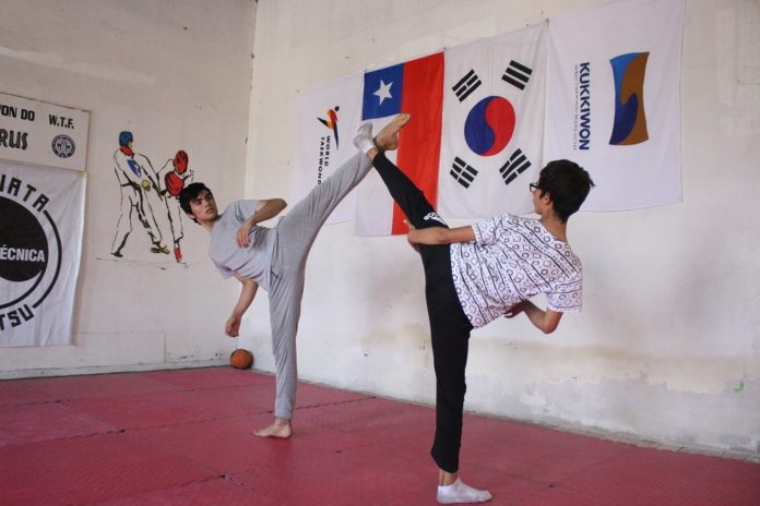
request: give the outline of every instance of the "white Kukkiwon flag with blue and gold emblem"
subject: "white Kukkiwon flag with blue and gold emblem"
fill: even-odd
[[[546,159],[596,183],[586,210],[681,201],[684,0],[618,0],[549,24]]]

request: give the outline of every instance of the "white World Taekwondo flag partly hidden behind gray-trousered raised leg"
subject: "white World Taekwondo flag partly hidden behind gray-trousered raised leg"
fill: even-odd
[[[361,84],[357,74],[299,93],[294,202],[358,153],[352,140],[361,116]],[[354,219],[355,200],[349,193],[325,224]]]

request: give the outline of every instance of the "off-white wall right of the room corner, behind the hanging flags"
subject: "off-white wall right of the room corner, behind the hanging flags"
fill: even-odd
[[[598,3],[261,0],[247,195],[290,194],[299,89]],[[759,9],[686,1],[684,203],[573,217],[583,313],[549,337],[524,320],[476,330],[468,409],[760,455]],[[266,309],[254,303],[240,344],[272,371]],[[299,374],[432,402],[426,318],[402,238],[326,227],[307,273]]]

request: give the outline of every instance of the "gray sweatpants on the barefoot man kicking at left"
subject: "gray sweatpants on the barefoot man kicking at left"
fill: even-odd
[[[296,333],[309,250],[330,213],[371,167],[369,158],[358,153],[314,186],[275,227],[269,299],[277,385],[274,415],[277,418],[290,420],[296,403]]]

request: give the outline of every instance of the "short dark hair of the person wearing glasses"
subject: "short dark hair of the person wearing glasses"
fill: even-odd
[[[554,210],[562,222],[580,209],[592,186],[594,181],[589,172],[570,160],[549,161],[538,176],[541,196],[549,194]]]

